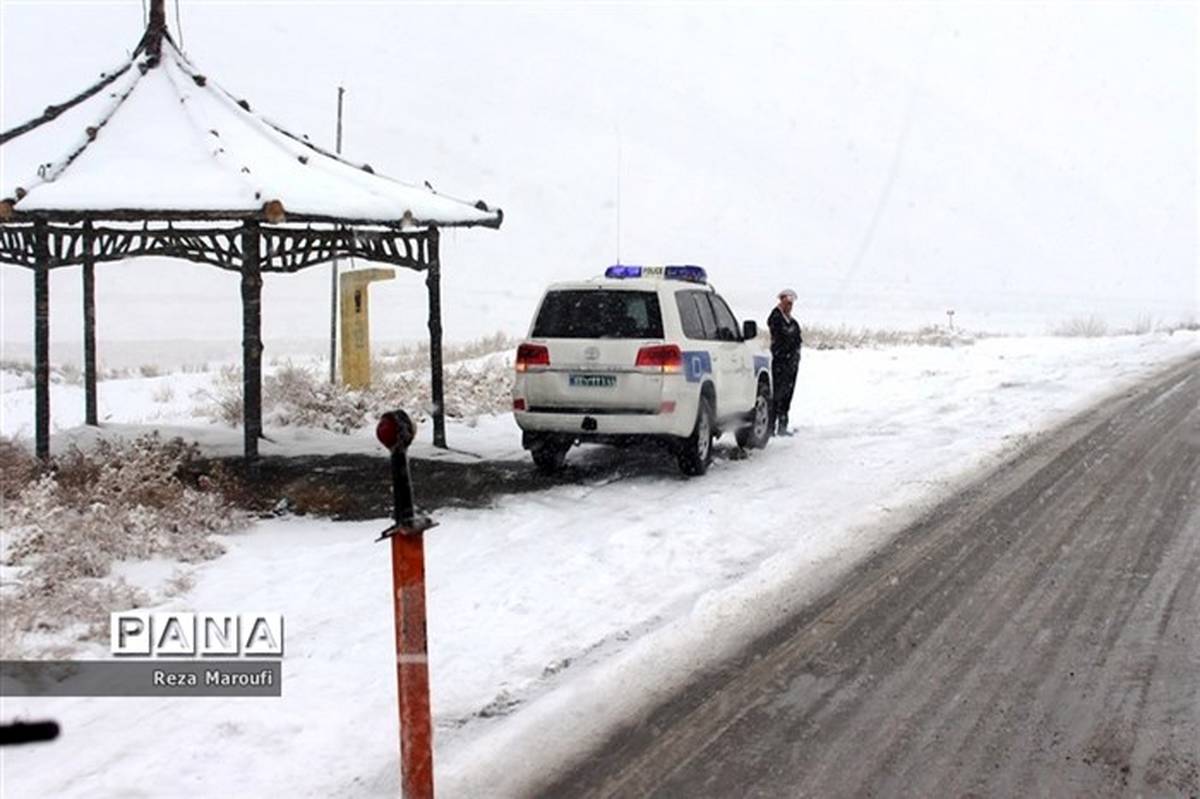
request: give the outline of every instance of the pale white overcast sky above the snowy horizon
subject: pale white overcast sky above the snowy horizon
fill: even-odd
[[[143,25],[139,1],[0,8],[5,128]],[[182,0],[179,18],[256,109],[331,145],[342,84],[350,158],[504,209],[499,232],[444,238],[451,340],[523,332],[545,283],[618,254],[703,264],[760,319],[785,286],[802,318],[856,325],[1198,314],[1194,4]],[[4,338],[29,341],[31,280],[0,278]],[[324,335],[328,281],[268,277],[269,349]],[[139,260],[97,282],[102,341],[240,335],[235,276]],[[55,338],[79,337],[78,284],[54,275]],[[422,290],[373,289],[374,336],[424,335]]]

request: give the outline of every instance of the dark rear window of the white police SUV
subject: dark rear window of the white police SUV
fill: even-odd
[[[534,338],[662,338],[654,292],[563,289],[541,301]]]

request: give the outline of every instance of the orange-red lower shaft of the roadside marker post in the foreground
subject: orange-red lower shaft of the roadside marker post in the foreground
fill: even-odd
[[[430,719],[425,637],[425,535],[396,530],[391,576],[396,590],[396,684],[400,693],[401,795],[433,798],[433,723]]]

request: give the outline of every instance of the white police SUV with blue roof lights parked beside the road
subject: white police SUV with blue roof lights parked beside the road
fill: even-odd
[[[578,443],[667,444],[698,475],[713,439],[770,438],[770,358],[700,266],[610,266],[556,283],[517,348],[512,413],[542,471]]]

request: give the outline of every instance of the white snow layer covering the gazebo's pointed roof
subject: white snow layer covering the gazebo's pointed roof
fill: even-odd
[[[289,133],[161,40],[98,84],[0,134],[0,202],[34,216],[499,227],[504,215],[374,174]],[[74,103],[74,104],[72,104]],[[278,206],[272,205],[275,214]]]

